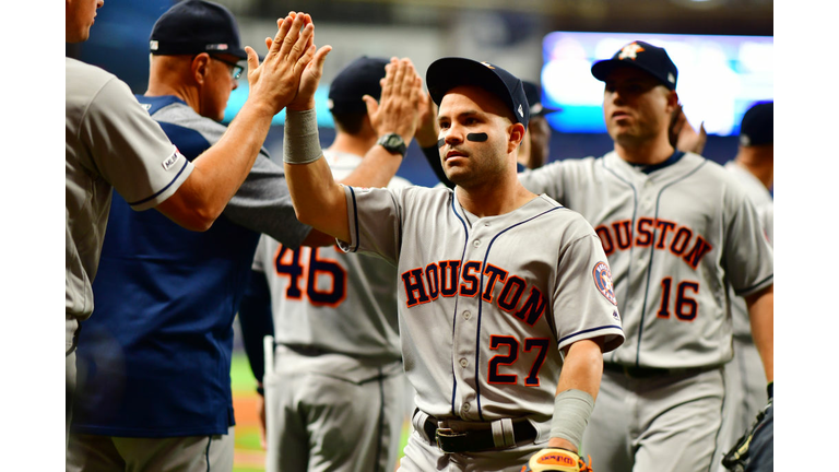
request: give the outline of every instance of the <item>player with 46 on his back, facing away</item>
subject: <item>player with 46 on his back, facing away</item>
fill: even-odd
[[[409,141],[402,141],[402,135],[414,132],[416,119],[389,128],[392,125],[385,122],[382,114],[368,114],[364,101],[365,95],[380,98],[380,81],[389,63],[361,57],[330,84],[336,135],[323,154],[338,180],[353,172],[374,146],[404,156]],[[389,68],[395,71],[394,66]],[[406,72],[412,72],[404,73],[406,81],[417,79],[412,85],[416,96],[427,101],[420,78],[413,70]],[[378,132],[382,127],[395,133]],[[393,177],[388,187],[409,184]],[[395,268],[381,258],[347,255],[335,246],[294,248],[263,235],[253,270],[251,284],[262,285],[270,297],[246,299],[239,316],[248,319],[273,311],[277,343],[274,368],[262,381],[265,399],[271,400],[265,404],[265,469],[393,471],[407,400]],[[257,305],[260,298],[270,305],[267,310]],[[251,343],[246,326],[244,335]],[[256,342],[261,345],[259,337]]]

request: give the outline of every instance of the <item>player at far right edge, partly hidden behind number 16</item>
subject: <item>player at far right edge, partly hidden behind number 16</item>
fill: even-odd
[[[755,204],[760,227],[770,244],[775,214],[770,193],[775,167],[773,107],[772,102],[758,103],[743,115],[737,155],[725,164]],[[755,415],[768,401],[766,375],[760,368],[760,354],[752,340],[746,303],[733,293],[730,299],[734,358],[725,364],[725,404],[718,455],[724,453],[751,428]],[[719,470],[725,469],[721,467]]]

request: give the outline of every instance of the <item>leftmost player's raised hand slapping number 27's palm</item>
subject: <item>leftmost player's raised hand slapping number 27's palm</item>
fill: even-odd
[[[250,46],[248,54],[249,101],[264,107],[272,116],[280,113],[297,95],[306,67],[315,57],[315,24],[306,13],[291,12],[276,21],[273,39],[265,38],[268,54],[262,63]]]

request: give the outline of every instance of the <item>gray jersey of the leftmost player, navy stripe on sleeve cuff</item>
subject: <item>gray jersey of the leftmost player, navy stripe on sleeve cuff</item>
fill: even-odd
[[[192,164],[114,74],[66,59],[67,315],[87,318],[111,186],[134,210],[175,193]]]

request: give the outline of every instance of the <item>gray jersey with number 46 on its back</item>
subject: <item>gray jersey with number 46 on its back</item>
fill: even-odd
[[[354,154],[323,155],[338,180],[362,161]],[[409,185],[394,177],[389,187]],[[294,250],[262,235],[253,270],[267,274],[277,343],[387,362],[401,358],[393,264],[335,246]]]

